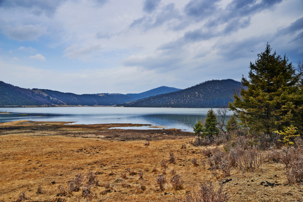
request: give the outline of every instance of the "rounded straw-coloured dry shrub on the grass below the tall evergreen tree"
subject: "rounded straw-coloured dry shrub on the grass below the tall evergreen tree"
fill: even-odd
[[[239,169],[243,171],[259,171],[264,163],[263,155],[256,149],[245,150],[238,159]]]

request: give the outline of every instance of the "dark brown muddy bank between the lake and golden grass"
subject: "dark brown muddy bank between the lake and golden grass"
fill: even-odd
[[[72,122],[48,122],[48,121],[14,121],[0,123],[0,135],[6,134],[30,134],[33,136],[62,135],[67,137],[91,137],[112,141],[133,140],[163,140],[184,139],[194,137],[194,133],[178,129],[109,129],[112,127],[148,126],[144,124],[70,124]]]

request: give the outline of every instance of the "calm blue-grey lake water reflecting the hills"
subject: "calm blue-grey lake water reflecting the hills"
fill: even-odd
[[[0,123],[10,121],[73,121],[74,124],[151,124],[193,131],[198,120],[205,119],[209,108],[124,108],[124,107],[52,107],[0,108]],[[214,111],[216,112],[216,108]],[[231,112],[229,112],[231,115]],[[125,129],[150,129],[127,127]]]

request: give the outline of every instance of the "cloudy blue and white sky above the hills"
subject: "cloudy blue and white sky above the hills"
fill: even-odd
[[[140,93],[247,77],[268,43],[303,60],[302,0],[0,0],[0,81]]]

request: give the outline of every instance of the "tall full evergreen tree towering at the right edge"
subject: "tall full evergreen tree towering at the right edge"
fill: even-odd
[[[296,74],[285,55],[282,58],[271,50],[267,44],[255,63],[250,62],[248,79],[242,77],[240,96],[234,95],[229,108],[254,131],[270,134],[290,124],[302,129],[301,75]]]

